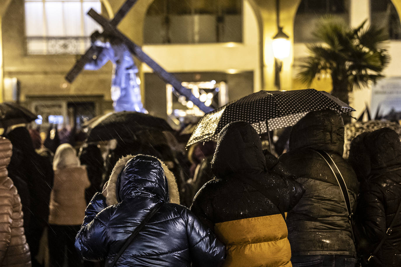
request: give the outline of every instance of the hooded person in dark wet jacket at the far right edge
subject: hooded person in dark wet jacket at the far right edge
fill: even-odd
[[[390,128],[358,135],[348,160],[361,181],[355,213],[361,262],[363,266],[401,266],[400,137]]]

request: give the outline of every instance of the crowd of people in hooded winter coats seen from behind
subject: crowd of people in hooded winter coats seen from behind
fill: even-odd
[[[348,159],[335,111],[285,132],[277,155],[244,121],[188,150],[150,130],[107,149],[46,147],[11,127],[0,139],[1,265],[401,266],[397,132],[358,135]]]

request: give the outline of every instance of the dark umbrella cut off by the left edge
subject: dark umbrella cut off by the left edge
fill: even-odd
[[[29,123],[37,118],[37,115],[16,103],[4,102],[0,104],[0,128],[7,128],[14,124]]]

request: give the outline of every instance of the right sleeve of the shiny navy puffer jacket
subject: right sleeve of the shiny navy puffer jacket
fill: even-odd
[[[221,266],[225,259],[225,247],[212,231],[188,210],[182,212],[186,221],[192,266]]]

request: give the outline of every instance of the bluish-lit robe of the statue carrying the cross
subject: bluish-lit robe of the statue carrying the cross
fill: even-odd
[[[125,44],[94,42],[97,53],[93,60],[85,64],[85,70],[98,70],[107,61],[113,62],[111,77],[111,99],[115,111],[137,111],[148,113],[141,102],[141,91],[136,82],[138,68]]]

